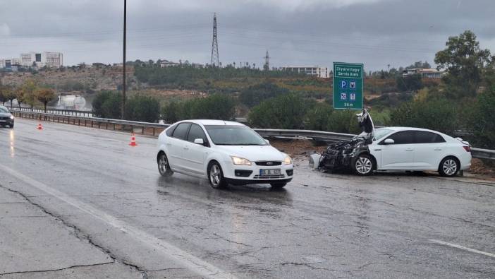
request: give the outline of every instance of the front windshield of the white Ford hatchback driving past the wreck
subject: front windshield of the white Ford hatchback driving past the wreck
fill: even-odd
[[[266,146],[267,142],[247,126],[206,125],[209,137],[217,146]]]

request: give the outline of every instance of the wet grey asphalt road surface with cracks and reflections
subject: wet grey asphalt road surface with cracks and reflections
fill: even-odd
[[[489,182],[304,161],[281,191],[218,191],[160,177],[155,138],[36,125],[0,129],[0,277],[495,278]]]

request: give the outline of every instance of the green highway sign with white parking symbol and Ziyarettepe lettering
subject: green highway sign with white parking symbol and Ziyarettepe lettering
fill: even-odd
[[[362,64],[334,62],[334,109],[362,109]]]

